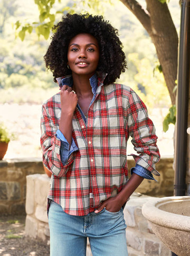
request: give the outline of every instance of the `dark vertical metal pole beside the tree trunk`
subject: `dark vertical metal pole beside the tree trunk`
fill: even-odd
[[[179,38],[177,120],[175,144],[174,196],[184,196],[186,191],[187,119],[190,57],[190,0],[182,0]]]

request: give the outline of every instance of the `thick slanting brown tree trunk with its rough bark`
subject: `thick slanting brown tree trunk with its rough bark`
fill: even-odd
[[[162,66],[170,99],[172,104],[175,104],[176,93],[173,90],[177,80],[178,36],[167,4],[162,4],[158,0],[146,0],[145,9],[135,0],[120,1],[137,17],[151,37]]]

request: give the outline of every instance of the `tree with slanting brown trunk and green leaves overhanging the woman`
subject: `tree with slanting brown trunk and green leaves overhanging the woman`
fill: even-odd
[[[58,0],[61,2],[61,0]],[[84,2],[83,0],[79,0]],[[109,0],[104,0],[108,1]],[[169,91],[172,104],[175,104],[176,93],[174,92],[177,78],[177,55],[178,55],[178,36],[175,25],[170,15],[166,0],[145,0],[146,8],[140,5],[136,0],[120,0],[124,5],[137,17],[139,22],[148,32],[153,41],[160,67],[164,74],[165,82]],[[50,30],[55,21],[55,14],[51,13],[52,6],[55,0],[34,0],[39,7],[39,23],[26,24],[22,27],[18,36],[24,40],[25,32],[32,32],[35,27],[36,33],[40,36],[42,34],[45,39],[49,38]],[[86,1],[87,2],[87,1]],[[92,7],[100,4],[99,0],[88,0],[88,4]],[[62,13],[68,10],[65,7],[57,13]],[[17,21],[16,29],[21,26]]]

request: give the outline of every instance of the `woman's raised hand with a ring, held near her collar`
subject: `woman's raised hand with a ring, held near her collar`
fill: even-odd
[[[60,91],[61,98],[61,111],[65,114],[74,113],[75,108],[77,107],[78,97],[77,94],[72,92],[72,87],[68,85],[63,85]]]

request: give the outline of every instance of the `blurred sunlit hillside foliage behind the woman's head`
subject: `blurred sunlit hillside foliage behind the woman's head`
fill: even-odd
[[[176,15],[178,3],[171,4]],[[46,71],[43,56],[53,24],[69,11],[99,14],[109,20],[119,31],[128,61],[128,69],[118,82],[132,87],[149,112],[154,108],[169,108],[169,93],[155,46],[121,1],[2,0],[0,8],[0,103],[41,104],[59,92],[52,74]]]

